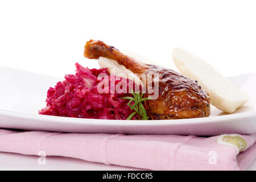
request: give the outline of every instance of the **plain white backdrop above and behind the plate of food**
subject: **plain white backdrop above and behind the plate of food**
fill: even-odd
[[[171,51],[182,47],[224,76],[240,75],[255,72],[255,22],[256,2],[245,0],[1,0],[0,66],[57,77],[74,73],[76,62],[98,68],[83,57],[86,41],[97,39],[175,70]],[[27,160],[9,157],[10,168]]]

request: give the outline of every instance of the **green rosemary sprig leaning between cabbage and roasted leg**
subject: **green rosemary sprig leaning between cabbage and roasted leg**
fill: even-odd
[[[123,97],[122,99],[130,100],[127,105],[131,108],[131,110],[135,110],[133,113],[129,115],[129,117],[126,120],[130,120],[134,117],[136,113],[139,114],[139,119],[147,120],[149,117],[147,117],[147,112],[142,105],[142,102],[150,99],[150,97],[143,98],[143,94],[139,94],[141,91],[135,93],[134,90],[131,91],[133,94],[133,97]],[[134,102],[133,105],[131,105],[131,102]]]

